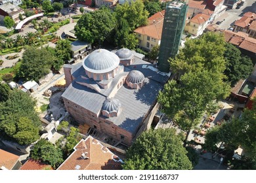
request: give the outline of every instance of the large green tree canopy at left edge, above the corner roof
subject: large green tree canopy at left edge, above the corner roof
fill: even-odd
[[[0,131],[8,140],[30,144],[39,139],[40,120],[35,101],[20,90],[11,91],[7,101],[0,103]]]

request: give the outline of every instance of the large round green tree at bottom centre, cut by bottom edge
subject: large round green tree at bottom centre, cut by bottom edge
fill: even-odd
[[[174,129],[143,132],[127,150],[123,169],[189,170],[192,163]]]

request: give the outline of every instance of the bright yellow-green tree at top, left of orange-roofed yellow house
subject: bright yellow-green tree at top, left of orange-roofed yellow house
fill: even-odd
[[[131,5],[127,2],[123,5],[117,5],[115,12],[117,20],[118,18],[127,20],[131,30],[148,24],[148,11],[144,8],[141,0],[131,1]]]

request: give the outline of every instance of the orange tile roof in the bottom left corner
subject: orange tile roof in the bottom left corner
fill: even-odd
[[[0,167],[5,167],[9,170],[16,165],[19,156],[0,149]]]

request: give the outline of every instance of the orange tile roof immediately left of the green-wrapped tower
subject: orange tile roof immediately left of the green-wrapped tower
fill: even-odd
[[[150,16],[150,18],[148,18],[148,25],[138,27],[135,29],[135,33],[148,35],[149,37],[154,37],[155,39],[160,40],[163,30],[164,14],[165,10],[162,10],[161,12],[157,12],[156,14]]]

